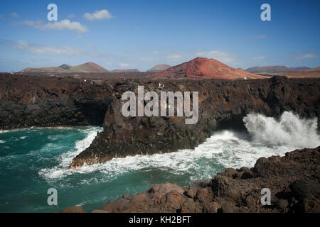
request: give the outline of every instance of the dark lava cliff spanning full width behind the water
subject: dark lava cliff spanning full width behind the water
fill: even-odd
[[[73,79],[1,75],[0,128],[103,125],[72,168],[113,157],[195,148],[219,128],[242,128],[251,112],[277,117],[294,111],[319,118],[320,79]],[[165,84],[159,89],[159,82]],[[145,91],[199,92],[199,118],[122,116],[121,96]]]

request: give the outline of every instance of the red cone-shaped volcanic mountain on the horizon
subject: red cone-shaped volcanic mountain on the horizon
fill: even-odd
[[[214,59],[197,57],[190,62],[170,67],[151,75],[151,77],[168,78],[215,78],[215,79],[257,79],[264,76],[236,70]]]

